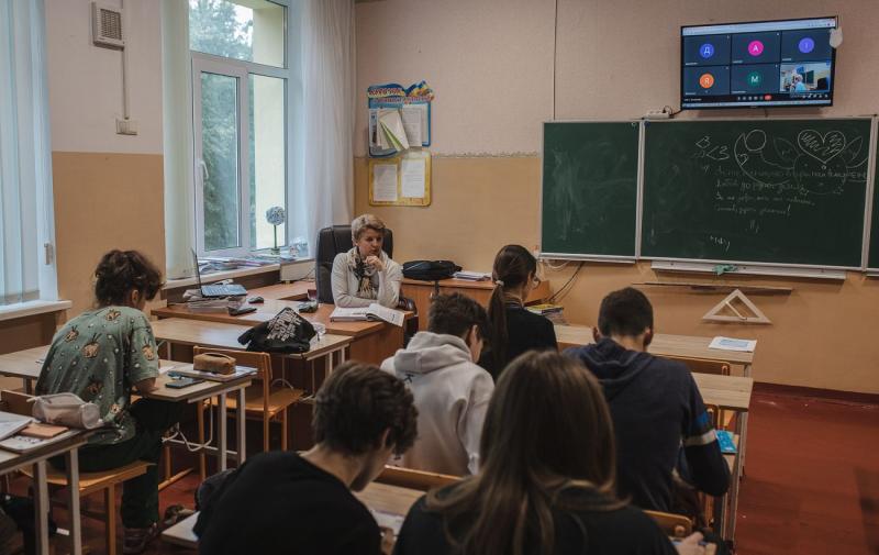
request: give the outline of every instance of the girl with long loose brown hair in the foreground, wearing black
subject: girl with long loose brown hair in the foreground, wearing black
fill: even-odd
[[[589,371],[558,353],[522,355],[489,403],[480,473],[422,497],[396,554],[674,554],[649,517],[616,499],[613,449]]]

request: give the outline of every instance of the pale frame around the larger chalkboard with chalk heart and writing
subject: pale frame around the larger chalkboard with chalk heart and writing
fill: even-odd
[[[865,271],[867,270],[867,260],[866,260],[866,252],[869,247],[867,241],[867,234],[869,233],[870,227],[870,208],[872,204],[872,185],[874,185],[874,173],[875,173],[875,165],[876,165],[876,157],[879,155],[877,154],[877,125],[879,120],[877,120],[876,115],[826,115],[826,116],[781,116],[781,118],[686,118],[680,120],[663,120],[657,123],[659,124],[677,124],[677,123],[697,123],[697,122],[723,122],[723,121],[731,121],[731,122],[744,122],[744,121],[766,121],[766,122],[787,122],[787,121],[815,121],[815,120],[865,120],[869,121],[870,123],[870,132],[869,132],[869,147],[868,147],[868,170],[867,170],[867,182],[865,186],[864,191],[864,237],[861,238],[861,259],[860,264],[857,266],[835,266],[835,265],[824,265],[824,264],[792,264],[792,263],[771,263],[771,262],[753,262],[753,260],[734,260],[734,259],[708,259],[708,258],[685,258],[685,257],[664,257],[664,256],[645,256],[639,252],[639,260],[653,260],[658,263],[688,263],[692,265],[732,265],[732,266],[744,266],[744,271],[741,274],[747,274],[747,267],[761,267],[761,268],[778,268],[778,275],[785,275],[785,269],[789,268],[793,270],[793,275],[797,275],[797,270],[847,270],[847,271]],[[650,124],[650,121],[644,121],[644,126],[646,127],[647,124]],[[646,143],[646,129],[642,135],[643,142]],[[642,144],[642,154],[644,154],[644,144]],[[641,160],[642,167],[644,166],[644,160]],[[645,177],[646,179],[646,177]],[[644,180],[641,181],[641,195],[644,193]],[[643,214],[638,214],[638,218],[643,220]],[[638,245],[641,246],[642,237],[638,236]],[[879,273],[879,268],[876,270]]]

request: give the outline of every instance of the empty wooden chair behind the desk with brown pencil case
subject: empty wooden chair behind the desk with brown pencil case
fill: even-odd
[[[207,348],[196,346],[193,355],[201,353],[220,353],[231,356],[238,366],[256,368],[256,378],[259,384],[251,386],[245,391],[245,417],[263,421],[263,451],[269,451],[269,422],[279,420],[281,423],[281,449],[287,451],[288,414],[287,409],[302,400],[304,391],[290,387],[271,387],[271,356],[268,353],[253,353],[249,351],[229,351],[222,348]],[[237,408],[237,399],[233,396],[226,398],[226,407],[231,410]],[[204,417],[199,410],[199,442],[204,443]],[[238,448],[245,448],[238,445]],[[201,471],[204,473],[204,452],[200,453]],[[203,479],[203,476],[202,476]]]

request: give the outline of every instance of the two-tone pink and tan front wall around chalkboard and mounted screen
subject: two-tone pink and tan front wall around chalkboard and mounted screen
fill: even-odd
[[[394,257],[450,258],[488,270],[505,243],[539,243],[541,122],[636,118],[677,106],[679,26],[799,16],[842,16],[836,106],[770,110],[772,115],[875,113],[879,42],[872,0],[683,2],[559,0],[553,93],[553,0],[383,0],[357,4],[357,90],[377,82],[426,79],[434,103],[433,203],[371,208],[367,195],[366,101],[358,98],[355,208],[394,230]],[[555,97],[555,98],[554,98]],[[555,103],[555,107],[554,107]],[[764,111],[689,112],[681,116],[758,116]],[[558,289],[576,264],[545,268]],[[708,324],[701,317],[722,295],[645,288],[660,333],[758,340],[759,381],[879,393],[879,280],[849,273],[844,282],[785,278],[712,280],[657,275],[649,263],[586,264],[564,299],[570,323],[593,324],[610,290],[646,280],[746,282],[792,287],[790,296],[753,297],[769,326]]]

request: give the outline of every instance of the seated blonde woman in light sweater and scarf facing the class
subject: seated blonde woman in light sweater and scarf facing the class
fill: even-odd
[[[381,249],[385,222],[361,214],[351,222],[354,247],[333,260],[333,301],[337,307],[368,307],[378,302],[397,308],[403,270]]]

